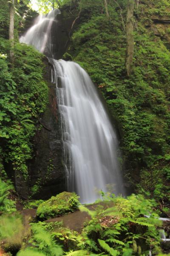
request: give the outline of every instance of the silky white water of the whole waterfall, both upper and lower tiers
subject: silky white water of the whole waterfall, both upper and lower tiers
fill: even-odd
[[[54,19],[52,13],[48,15]],[[44,53],[45,48],[51,49],[48,15],[40,16],[20,42]],[[94,84],[78,64],[53,58],[49,61],[52,81],[57,85],[68,190],[77,192],[82,203],[94,202],[99,197],[97,190],[107,191],[106,184],[114,185],[115,194],[124,194],[116,160],[116,133]]]

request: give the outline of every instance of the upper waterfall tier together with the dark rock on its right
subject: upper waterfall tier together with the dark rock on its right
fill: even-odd
[[[20,43],[33,45],[47,57],[60,59],[68,47],[73,20],[74,17],[65,19],[59,9],[39,15],[34,25],[20,37]]]

